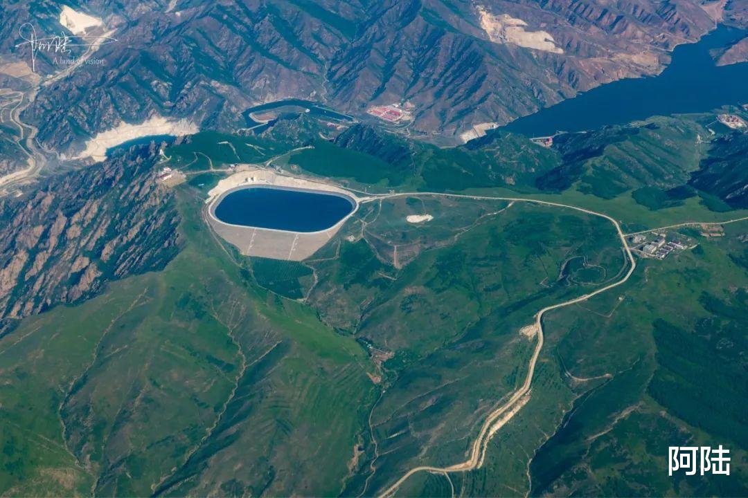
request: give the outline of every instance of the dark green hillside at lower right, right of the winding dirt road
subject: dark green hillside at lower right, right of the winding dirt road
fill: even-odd
[[[725,228],[724,239],[643,261],[616,292],[550,314],[532,399],[491,441],[485,467],[453,476],[456,493],[744,496],[748,223]],[[668,446],[720,443],[732,476],[667,476]]]

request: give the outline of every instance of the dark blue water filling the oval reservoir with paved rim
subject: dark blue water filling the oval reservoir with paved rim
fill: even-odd
[[[249,187],[225,196],[214,214],[232,225],[308,232],[330,228],[353,208],[349,198],[333,193]]]

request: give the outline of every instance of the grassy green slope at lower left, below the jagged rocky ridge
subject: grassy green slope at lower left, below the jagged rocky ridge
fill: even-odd
[[[367,355],[257,287],[199,201],[180,205],[164,271],[2,338],[3,494],[340,490],[373,402]]]

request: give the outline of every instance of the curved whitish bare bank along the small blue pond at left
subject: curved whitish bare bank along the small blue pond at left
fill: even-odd
[[[91,158],[93,161],[103,161],[106,159],[106,150],[116,147],[129,140],[136,138],[149,137],[151,135],[191,135],[197,133],[199,128],[194,122],[188,119],[170,120],[163,116],[153,116],[141,124],[136,125],[129,122],[120,122],[116,128],[101,131],[96,137],[86,142],[86,148],[83,152],[73,159]]]

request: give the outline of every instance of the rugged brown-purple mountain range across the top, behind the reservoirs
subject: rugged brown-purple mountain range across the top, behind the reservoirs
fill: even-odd
[[[669,50],[698,40],[724,8],[697,0],[450,5],[90,1],[85,10],[114,30],[117,43],[98,49],[102,65],[80,66],[44,87],[25,116],[40,127],[44,145],[72,153],[121,120],[143,122],[154,114],[190,117],[202,128],[236,128],[250,105],[289,97],[352,113],[370,103],[410,101],[416,106],[412,132],[456,140],[476,123],[507,122],[580,90],[656,73]],[[58,9],[48,0],[23,2],[4,16],[49,31]],[[483,14],[512,19],[512,29],[521,26],[519,38],[489,34]],[[0,48],[23,57],[11,50],[15,32],[4,29]],[[523,33],[547,34],[558,50],[519,46]],[[61,69],[44,54],[37,64],[46,74]]]

